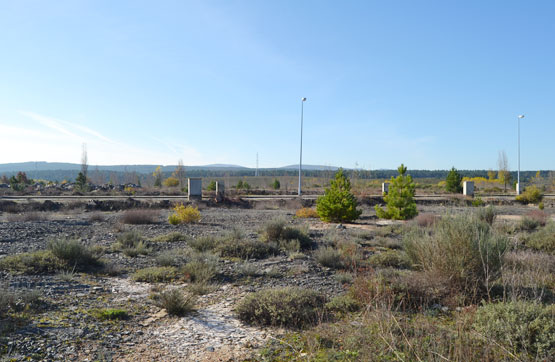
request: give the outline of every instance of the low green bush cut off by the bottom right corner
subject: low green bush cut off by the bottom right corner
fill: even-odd
[[[474,327],[515,354],[535,360],[555,356],[555,306],[530,302],[486,304],[478,308]],[[528,358],[526,358],[528,359]]]

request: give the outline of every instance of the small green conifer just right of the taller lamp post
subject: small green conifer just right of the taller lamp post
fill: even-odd
[[[351,182],[342,169],[335,174],[329,188],[318,198],[316,211],[326,222],[350,222],[359,218],[356,197],[351,193]]]

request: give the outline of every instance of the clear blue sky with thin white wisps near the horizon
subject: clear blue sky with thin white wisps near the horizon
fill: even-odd
[[[555,169],[552,0],[0,0],[0,163]]]

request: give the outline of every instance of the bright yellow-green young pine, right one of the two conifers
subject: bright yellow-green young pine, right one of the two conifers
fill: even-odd
[[[397,171],[399,176],[391,177],[389,193],[383,198],[387,204],[387,210],[383,210],[379,205],[375,207],[376,215],[380,219],[407,220],[418,215],[413,199],[416,185],[410,175],[405,176],[407,168],[403,164]]]

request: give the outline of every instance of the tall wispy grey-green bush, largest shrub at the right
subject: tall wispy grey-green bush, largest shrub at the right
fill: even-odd
[[[412,231],[404,249],[417,268],[447,277],[471,299],[491,287],[501,271],[508,240],[472,215],[444,217],[431,233]]]

